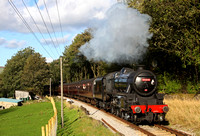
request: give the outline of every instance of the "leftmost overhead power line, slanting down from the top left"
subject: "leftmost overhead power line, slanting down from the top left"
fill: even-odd
[[[15,4],[12,2],[12,0],[8,0],[9,4],[11,5],[11,7],[14,9],[15,13],[19,16],[19,18],[22,20],[22,22],[24,23],[24,25],[28,28],[28,30],[33,34],[33,36],[35,37],[35,39],[40,43],[40,45],[42,45],[42,43],[40,42],[40,40],[38,39],[38,37],[36,36],[36,34],[33,32],[33,30],[31,29],[31,27],[28,25],[28,23],[26,22],[26,20],[24,19],[24,17],[22,16],[22,14],[19,12],[19,10],[17,9],[17,7],[15,6]],[[53,57],[49,54],[49,52],[44,48],[44,46],[42,45],[43,49],[47,52],[47,54],[53,59]]]

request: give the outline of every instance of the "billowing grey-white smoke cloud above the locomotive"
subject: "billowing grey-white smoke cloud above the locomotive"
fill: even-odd
[[[124,4],[113,5],[100,22],[92,26],[93,38],[81,46],[88,60],[132,63],[146,52],[151,17]]]

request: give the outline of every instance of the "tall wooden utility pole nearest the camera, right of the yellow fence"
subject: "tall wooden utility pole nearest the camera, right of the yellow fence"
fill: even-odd
[[[60,90],[61,90],[61,122],[62,128],[64,127],[64,118],[63,118],[63,74],[62,74],[62,57],[60,57]]]

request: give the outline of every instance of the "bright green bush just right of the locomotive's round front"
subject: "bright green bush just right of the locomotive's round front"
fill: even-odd
[[[172,77],[169,73],[164,72],[164,75],[158,76],[158,91],[162,93],[178,93],[181,90],[179,80]]]

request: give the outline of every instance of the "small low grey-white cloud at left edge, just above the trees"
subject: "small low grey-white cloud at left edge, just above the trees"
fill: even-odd
[[[3,46],[5,48],[11,48],[11,49],[15,49],[15,48],[22,48],[26,45],[25,41],[16,41],[16,40],[6,40],[2,37],[0,37],[0,46]]]

